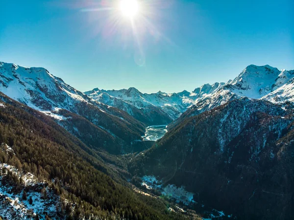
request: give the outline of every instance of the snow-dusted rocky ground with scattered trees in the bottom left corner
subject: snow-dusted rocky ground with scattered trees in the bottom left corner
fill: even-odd
[[[4,163],[0,163],[0,171],[0,216],[3,220],[31,220],[37,213],[41,220],[45,219],[46,215],[52,220],[60,220],[56,216],[56,208],[60,207],[60,197],[52,192],[46,182],[40,182],[33,174],[19,171]],[[8,171],[22,178],[21,190],[10,184],[3,185],[2,178]],[[45,191],[47,198],[44,198]],[[23,199],[24,193],[26,199]]]

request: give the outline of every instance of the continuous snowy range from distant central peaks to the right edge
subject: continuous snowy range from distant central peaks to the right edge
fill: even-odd
[[[99,102],[121,108],[131,115],[132,106],[137,109],[144,109],[144,113],[150,108],[159,108],[171,120],[175,120],[187,110],[191,110],[192,106],[194,106],[192,108],[194,111],[198,111],[195,114],[198,114],[241,97],[262,98],[274,102],[287,101],[289,98],[293,98],[291,95],[293,87],[290,85],[290,80],[293,77],[294,71],[279,71],[269,65],[249,65],[233,80],[226,83],[216,82],[212,85],[204,84],[191,93],[184,90],[180,93],[171,94],[161,91],[143,94],[136,88],[131,87],[122,90],[95,88],[92,91],[85,92],[85,94]],[[286,84],[288,85],[287,88],[283,87]],[[285,90],[285,94],[284,90],[279,89],[281,87]],[[274,93],[274,91],[277,92]],[[268,95],[269,97],[267,97]],[[275,98],[277,95],[281,98]],[[120,104],[118,104],[119,102]],[[122,107],[122,105],[124,106]]]

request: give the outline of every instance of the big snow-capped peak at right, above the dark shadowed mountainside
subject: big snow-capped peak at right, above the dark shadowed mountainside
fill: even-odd
[[[196,104],[183,113],[170,127],[187,117],[198,115],[201,112],[242,97],[265,99],[280,104],[292,101],[292,94],[294,94],[293,77],[293,70],[279,71],[269,65],[249,65],[234,80],[216,85],[216,89],[211,93],[196,98]],[[205,85],[203,87],[208,87],[204,91],[210,88]],[[199,91],[201,90],[196,89],[196,92]]]

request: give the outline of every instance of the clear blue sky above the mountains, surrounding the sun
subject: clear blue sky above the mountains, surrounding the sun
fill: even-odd
[[[192,91],[250,64],[294,69],[294,0],[1,0],[0,61],[84,92]]]

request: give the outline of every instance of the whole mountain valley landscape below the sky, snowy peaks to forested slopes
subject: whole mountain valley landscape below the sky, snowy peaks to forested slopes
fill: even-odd
[[[0,62],[0,162],[71,202],[54,204],[56,220],[291,220],[293,79],[249,65],[192,92],[82,93],[44,68]],[[1,199],[17,203],[2,218],[53,218],[26,201],[16,210],[23,191],[53,203],[7,175],[16,193],[5,182]]]

